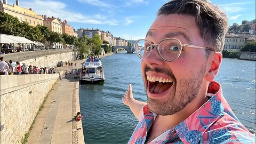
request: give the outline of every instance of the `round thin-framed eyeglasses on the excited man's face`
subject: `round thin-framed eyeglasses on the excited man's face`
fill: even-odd
[[[182,46],[194,47],[197,49],[211,50],[210,47],[201,47],[196,45],[182,44],[179,39],[176,38],[165,38],[159,44],[151,44],[147,39],[139,39],[134,47],[135,51],[140,59],[145,59],[149,52],[157,47],[157,52],[165,61],[174,61],[180,57]]]

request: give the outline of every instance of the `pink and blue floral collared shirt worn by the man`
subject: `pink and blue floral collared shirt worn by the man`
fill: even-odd
[[[255,143],[255,135],[239,122],[222,95],[221,85],[212,81],[210,99],[195,113],[149,143]],[[143,107],[143,115],[129,143],[145,143],[157,114]]]

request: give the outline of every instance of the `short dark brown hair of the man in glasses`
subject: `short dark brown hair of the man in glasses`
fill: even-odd
[[[213,45],[212,48],[218,52],[223,50],[225,35],[228,30],[228,18],[218,6],[207,0],[173,0],[165,3],[158,10],[157,16],[161,14],[194,16],[205,44]],[[209,53],[207,52],[206,55]]]

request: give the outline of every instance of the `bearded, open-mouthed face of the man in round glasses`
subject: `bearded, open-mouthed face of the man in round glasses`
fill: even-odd
[[[189,15],[159,15],[149,28],[146,39],[159,44],[164,38],[177,38],[182,44],[206,46],[199,34],[195,18]],[[177,60],[164,61],[156,47],[141,60],[148,106],[159,115],[172,115],[186,107],[198,95],[205,94],[206,69],[204,49],[182,47]],[[203,83],[204,82],[204,83]],[[203,83],[203,84],[202,84]]]

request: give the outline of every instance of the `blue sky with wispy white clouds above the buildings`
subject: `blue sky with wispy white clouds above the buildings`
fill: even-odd
[[[8,1],[9,4],[15,1]],[[76,30],[93,28],[110,31],[124,39],[144,38],[156,12],[166,0],[20,0],[20,6],[30,7],[37,14],[66,19]],[[242,20],[255,19],[255,0],[212,0],[226,11],[229,25],[241,25]]]

